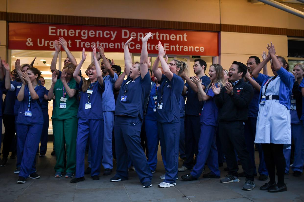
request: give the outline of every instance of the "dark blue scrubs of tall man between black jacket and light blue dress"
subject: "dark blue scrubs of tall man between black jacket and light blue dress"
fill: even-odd
[[[261,73],[259,73],[259,74],[261,74]],[[252,78],[252,79],[254,79],[254,78]],[[259,85],[262,85],[262,82],[260,82]],[[247,151],[249,152],[250,160],[254,167],[254,174],[257,174],[257,168],[256,168],[255,161],[254,161],[254,139],[255,139],[255,131],[257,128],[257,114],[259,111],[260,91],[257,91],[255,88],[253,88],[253,93],[254,94],[253,94],[252,100],[250,101],[249,106],[248,106],[248,120],[244,122],[245,123],[244,134],[245,134],[246,148],[247,148]],[[259,159],[260,159],[258,172],[260,175],[261,174],[268,175],[262,146],[260,144],[256,144],[256,147],[258,148]]]

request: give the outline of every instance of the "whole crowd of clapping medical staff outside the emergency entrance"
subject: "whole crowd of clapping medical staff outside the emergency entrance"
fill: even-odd
[[[287,190],[284,173],[282,179],[282,155],[284,172],[288,174],[291,139],[295,143],[292,165],[294,176],[301,176],[304,164],[304,65],[297,64],[289,72],[286,60],[273,56],[275,49],[271,43],[267,47],[268,55],[265,52],[262,55],[262,62],[257,56],[250,56],[247,65],[234,61],[229,71],[219,64],[212,64],[207,76],[206,62],[196,59],[193,65],[196,76],[188,77],[187,64],[176,59],[168,61],[166,51],[159,42],[159,53],[152,72],[149,72],[151,62],[147,41],[151,36],[149,32],[141,39],[139,62],[133,63],[129,52],[128,45],[132,37],[126,41],[125,70],[121,75],[120,71],[117,72],[118,66],[114,67],[111,60],[105,57],[104,49],[93,46],[94,61],[85,71],[87,80],[80,71],[87,56],[85,48],[77,64],[64,38],[55,40],[50,90],[43,87],[44,78],[33,64],[20,65],[17,60],[12,81],[9,65],[2,60],[0,93],[4,88],[7,91],[3,118],[8,117],[9,123],[15,125],[9,127],[5,123],[0,166],[5,166],[11,145],[16,144],[17,164],[14,173],[19,174],[17,183],[25,183],[28,177],[40,178],[36,173],[36,153],[38,150],[40,157],[46,153],[49,120],[47,105],[53,99],[51,119],[57,160],[54,177],[64,175],[65,178],[72,178],[75,175],[71,183],[77,183],[85,180],[85,173],[90,173],[93,180],[99,180],[101,165],[105,169],[104,175],[110,175],[113,169],[113,146],[117,167],[116,174],[110,180],[128,180],[128,169],[133,165],[143,187],[151,187],[159,143],[165,168],[159,187],[176,185],[178,171],[191,171],[181,176],[184,181],[197,180],[205,171],[205,164],[210,172],[203,174],[203,177],[220,178],[219,166],[225,155],[229,155],[227,161],[231,160],[230,154],[235,156],[235,162],[239,157],[244,159],[244,154],[248,155],[248,164],[252,166],[253,175],[257,176],[254,161],[256,145],[260,158],[259,180],[267,180],[268,176],[270,178],[260,189],[270,192]],[[66,51],[67,58],[62,71],[59,71],[56,61],[61,48]],[[96,52],[96,48],[99,52]],[[267,75],[268,61],[271,61],[273,77]],[[259,73],[262,69],[263,74]],[[234,77],[236,79],[233,80]],[[241,84],[243,81],[247,84]],[[237,88],[237,83],[238,86],[250,85],[246,87],[252,89],[249,90],[251,95],[248,95],[248,99],[242,100],[240,92],[244,90]],[[220,98],[221,91],[224,91],[223,99]],[[240,141],[246,148],[244,154],[238,154],[240,148],[233,148],[235,143],[231,144],[233,147],[229,148],[229,152],[225,151],[226,144],[220,148],[223,141],[231,141],[231,138],[226,140],[220,132],[222,130],[219,130],[218,116],[227,111],[223,106],[228,106],[218,104],[219,100],[228,103],[237,103],[236,100],[246,102],[242,106],[248,113],[245,118],[241,118],[244,129],[241,138],[244,141]],[[277,127],[277,124],[281,127]],[[146,133],[147,156],[141,145],[142,130]],[[112,144],[112,135],[115,144]],[[85,150],[88,146],[89,167],[85,170]],[[225,155],[218,152],[222,150]],[[180,168],[178,157],[184,161]],[[248,169],[245,168],[244,173],[233,174],[232,164],[227,162],[227,165],[225,170],[229,175],[221,180],[222,183],[239,182],[238,177],[249,179],[247,171],[250,166],[246,165]],[[278,184],[274,179],[274,167],[278,171]],[[253,178],[250,182],[246,179],[244,187],[244,190],[252,190],[255,187]]]

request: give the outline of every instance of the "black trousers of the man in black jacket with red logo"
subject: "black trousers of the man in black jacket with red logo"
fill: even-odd
[[[235,157],[235,150],[241,161],[246,178],[254,180],[254,168],[250,161],[249,152],[246,149],[243,122],[219,122],[219,137],[226,156],[228,174],[236,177],[239,176],[237,173],[239,166]]]

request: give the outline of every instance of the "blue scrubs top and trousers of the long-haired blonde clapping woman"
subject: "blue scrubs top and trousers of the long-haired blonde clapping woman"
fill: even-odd
[[[216,84],[218,87],[218,84]],[[191,175],[199,178],[207,165],[212,174],[220,176],[218,154],[216,150],[216,127],[218,125],[217,117],[219,110],[214,101],[214,93],[211,88],[206,89],[206,94],[211,98],[206,100],[200,116],[201,134],[199,137],[199,151],[196,157],[196,164],[193,167]]]

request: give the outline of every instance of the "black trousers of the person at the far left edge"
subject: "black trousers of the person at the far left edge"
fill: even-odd
[[[3,153],[3,157],[8,157],[12,143],[16,144],[16,141],[14,141],[15,133],[16,133],[15,116],[3,114],[2,119],[3,119],[3,125],[5,127],[2,153]]]

